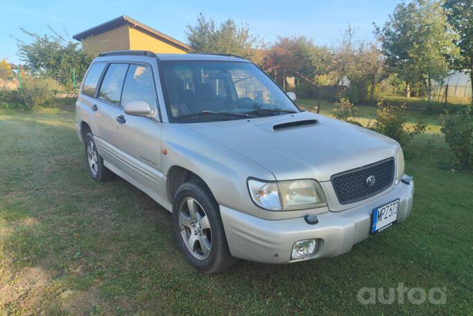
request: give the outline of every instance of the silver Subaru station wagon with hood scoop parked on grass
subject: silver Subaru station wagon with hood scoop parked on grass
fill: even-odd
[[[201,272],[338,256],[406,219],[399,144],[294,101],[237,56],[114,51],[87,71],[76,131],[92,178],[169,210]]]

